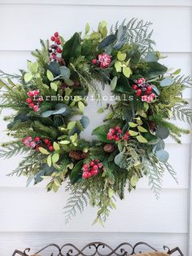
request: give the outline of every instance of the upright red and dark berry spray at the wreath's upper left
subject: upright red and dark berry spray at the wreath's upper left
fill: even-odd
[[[58,57],[58,54],[62,53],[62,49],[60,47],[61,40],[59,38],[59,33],[55,32],[54,35],[50,38],[54,44],[50,46],[49,52],[50,52],[50,60],[60,60]]]

